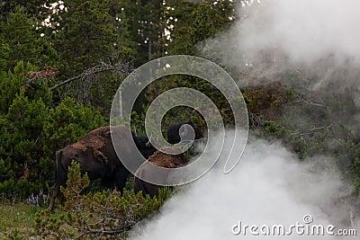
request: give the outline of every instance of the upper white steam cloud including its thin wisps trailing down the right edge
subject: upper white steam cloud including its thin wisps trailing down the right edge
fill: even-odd
[[[238,20],[229,31],[199,44],[199,54],[226,66],[240,87],[269,82],[291,86],[299,100],[325,106],[329,125],[339,122],[358,132],[360,1],[253,2],[239,4]],[[353,109],[344,111],[345,105]],[[307,111],[299,111],[299,120],[307,117]],[[321,124],[312,121],[313,126]]]

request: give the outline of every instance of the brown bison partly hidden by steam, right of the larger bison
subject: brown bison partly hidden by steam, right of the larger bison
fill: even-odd
[[[166,150],[166,152],[168,153],[176,153],[179,151],[179,149],[176,147],[164,147],[163,149]],[[148,194],[150,198],[153,198],[154,196],[158,196],[158,190],[162,188],[162,186],[145,182],[140,179],[140,178],[145,178],[150,174],[153,174],[151,173],[150,170],[151,169],[150,164],[155,164],[157,166],[166,167],[166,168],[177,168],[177,167],[182,167],[188,163],[189,163],[189,159],[184,154],[169,155],[161,151],[157,151],[154,155],[148,157],[148,161],[141,164],[138,170],[136,171],[134,186],[133,186],[135,193],[142,191],[144,197]],[[157,177],[166,178],[167,176],[157,176]]]

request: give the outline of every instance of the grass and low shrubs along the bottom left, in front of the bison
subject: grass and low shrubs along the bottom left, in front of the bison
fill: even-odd
[[[124,239],[143,218],[156,214],[170,196],[163,189],[157,198],[144,198],[139,192],[90,191],[90,181],[73,162],[67,175],[67,188],[61,188],[64,205],[55,213],[43,195],[27,200],[3,196],[0,207],[0,239]]]

